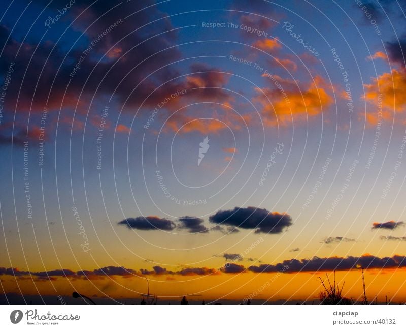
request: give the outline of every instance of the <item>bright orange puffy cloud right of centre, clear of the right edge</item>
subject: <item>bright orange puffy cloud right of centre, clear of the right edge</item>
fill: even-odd
[[[320,76],[314,82],[294,85],[278,80],[278,76],[268,75],[272,87],[255,88],[257,96],[253,101],[262,105],[264,123],[268,126],[287,126],[294,120],[306,120],[319,115],[332,103],[326,92],[328,83]]]

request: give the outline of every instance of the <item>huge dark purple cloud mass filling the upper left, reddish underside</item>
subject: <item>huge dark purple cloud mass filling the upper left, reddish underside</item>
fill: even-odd
[[[44,20],[39,20],[41,25],[49,10],[56,12],[65,5],[61,0],[38,0],[30,4],[37,11],[47,6],[48,11],[43,14]],[[223,87],[229,79],[229,75],[219,68],[194,63],[182,69],[185,71],[182,73],[189,75],[177,78],[181,73],[174,69],[174,65],[170,65],[182,58],[176,47],[177,33],[169,31],[174,28],[171,20],[166,13],[153,5],[154,2],[150,0],[122,3],[76,2],[61,19],[74,22],[71,30],[74,30],[75,34],[83,32],[83,36],[75,45],[74,39],[69,38],[65,38],[61,46],[52,40],[40,44],[28,39],[22,41],[14,34],[10,35],[10,28],[0,26],[0,44],[5,45],[0,58],[0,72],[7,72],[10,63],[16,62],[12,82],[7,91],[8,106],[18,108],[19,114],[24,116],[24,122],[29,110],[38,113],[45,106],[51,112],[59,108],[71,110],[78,105],[77,115],[83,115],[96,108],[96,105],[94,108],[90,107],[93,98],[103,102],[110,98],[113,92],[114,102],[119,105],[125,103],[123,110],[134,111],[143,105],[141,110],[148,113],[148,108],[165,100],[168,93],[182,89],[187,89],[187,93],[172,100],[165,110],[177,110],[182,105],[198,101],[231,102],[229,93],[218,88]],[[116,7],[109,11],[114,6]],[[134,14],[124,20],[130,13]],[[99,19],[100,17],[103,19]],[[120,19],[122,22],[117,27],[104,34]],[[149,24],[150,22],[152,23]],[[56,25],[53,28],[56,28]],[[83,51],[101,34],[103,39],[84,56],[80,68],[71,78],[70,74],[83,57]],[[70,48],[72,50],[66,53],[66,49]],[[148,79],[145,79],[146,77]],[[66,89],[68,83],[69,88]],[[137,88],[134,89],[135,87]],[[165,115],[167,111],[161,111],[159,114]],[[169,119],[167,128],[177,131],[179,127],[189,123],[187,128],[190,131],[210,132],[210,126],[202,128],[199,126],[201,122],[190,121],[190,118],[185,113],[178,113]],[[242,127],[241,117],[233,117],[231,112],[219,115],[218,119],[232,128]],[[239,122],[234,123],[237,121]],[[75,122],[81,123],[76,117]],[[91,121],[89,125],[93,125]],[[211,126],[211,130],[226,128],[226,125],[220,128],[218,125]],[[14,138],[16,143],[21,144],[19,137]],[[2,134],[0,144],[9,143],[10,135]]]

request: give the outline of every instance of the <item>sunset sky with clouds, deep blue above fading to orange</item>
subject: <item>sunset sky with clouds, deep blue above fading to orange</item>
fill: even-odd
[[[6,1],[1,302],[406,301],[405,10]]]

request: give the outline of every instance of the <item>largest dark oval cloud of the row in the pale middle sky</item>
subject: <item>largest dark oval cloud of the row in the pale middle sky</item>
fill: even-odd
[[[210,216],[210,222],[235,226],[243,229],[256,229],[255,233],[279,234],[292,225],[288,214],[269,212],[265,208],[235,207],[229,210],[220,210]]]

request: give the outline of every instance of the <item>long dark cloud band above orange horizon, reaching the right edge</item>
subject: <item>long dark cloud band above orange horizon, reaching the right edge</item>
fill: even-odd
[[[288,266],[289,268],[286,268]],[[349,271],[357,268],[398,268],[406,267],[406,256],[395,255],[393,257],[379,258],[372,255],[361,257],[313,257],[312,259],[290,259],[274,265],[261,264],[250,266],[248,269],[255,273],[286,272],[317,272],[317,271]]]

